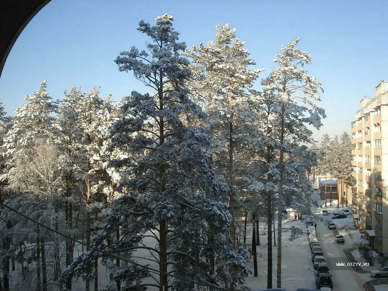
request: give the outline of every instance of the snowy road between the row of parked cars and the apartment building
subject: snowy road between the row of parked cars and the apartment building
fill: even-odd
[[[318,214],[317,210],[317,237],[320,246],[324,251],[325,258],[332,258],[327,260],[327,267],[330,269],[331,279],[333,281],[333,291],[365,291],[362,284],[373,279],[369,274],[357,273],[351,267],[344,267],[344,270],[338,270],[335,266],[335,258],[345,258],[346,255],[343,249],[350,248],[350,244],[340,245],[334,240],[333,230],[327,228],[327,222],[331,221],[331,213],[327,216]]]

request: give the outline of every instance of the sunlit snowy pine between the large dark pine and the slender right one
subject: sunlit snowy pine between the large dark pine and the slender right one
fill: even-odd
[[[236,38],[236,29],[218,23],[215,42],[207,46],[193,46],[185,56],[192,58],[192,77],[189,82],[191,96],[208,113],[205,126],[213,139],[215,153],[212,164],[228,187],[228,205],[234,223],[230,237],[236,243],[236,218],[244,210],[239,196],[249,186],[245,179],[251,147],[257,147],[262,137],[252,107],[255,96],[248,92],[263,69],[250,69],[255,62],[249,59],[245,42]]]

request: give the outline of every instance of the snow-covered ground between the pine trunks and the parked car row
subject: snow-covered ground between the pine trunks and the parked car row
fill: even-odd
[[[275,220],[275,225],[277,221]],[[284,228],[291,226],[299,227],[307,231],[305,220],[285,221]],[[256,246],[258,256],[258,277],[249,275],[246,286],[251,290],[267,288],[267,236],[262,236],[263,227],[260,229],[260,246]],[[267,232],[266,232],[267,233]],[[297,288],[315,288],[314,267],[310,255],[307,234],[301,235],[298,239],[288,241],[291,232],[282,232],[282,288],[295,290]],[[277,231],[276,231],[277,236]],[[249,238],[250,241],[250,238]],[[272,244],[272,287],[276,287],[276,264],[277,248]],[[253,258],[251,258],[253,270]]]

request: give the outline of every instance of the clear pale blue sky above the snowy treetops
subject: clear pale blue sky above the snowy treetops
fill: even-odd
[[[388,80],[388,2],[386,1],[130,1],[52,0],[27,25],[12,48],[0,78],[0,102],[8,114],[47,80],[54,100],[73,85],[101,87],[115,100],[132,90],[145,92],[131,73],[118,71],[117,55],[149,42],[136,30],[139,19],[174,16],[174,27],[188,47],[215,38],[215,25],[229,23],[246,42],[255,68],[266,77],[280,45],[301,37],[310,53],[310,75],[323,83],[320,105],[327,118],[323,133],[350,132],[364,95],[372,98]],[[255,88],[260,90],[260,81]]]

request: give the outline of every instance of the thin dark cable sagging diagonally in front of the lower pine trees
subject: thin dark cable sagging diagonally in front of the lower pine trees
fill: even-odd
[[[13,208],[11,208],[11,207],[5,205],[5,204],[2,203],[2,202],[0,202],[0,204],[1,204],[2,206],[4,206],[4,207],[8,208],[9,210],[14,211],[15,213],[21,215],[22,217],[24,217],[24,218],[26,218],[26,219],[28,219],[28,220],[31,220],[32,222],[34,222],[34,223],[36,223],[36,224],[38,224],[38,225],[44,227],[45,229],[51,230],[52,232],[55,232],[56,234],[59,234],[60,236],[66,237],[67,239],[71,239],[72,241],[78,242],[79,244],[82,244],[82,245],[84,245],[84,246],[86,246],[86,247],[88,247],[88,248],[94,249],[95,251],[99,251],[99,252],[101,252],[101,253],[103,253],[103,254],[105,254],[105,255],[112,256],[113,258],[116,258],[116,259],[119,259],[119,260],[123,260],[124,262],[131,263],[131,264],[133,264],[133,265],[136,265],[136,266],[138,266],[138,267],[145,268],[145,269],[150,270],[150,271],[153,271],[153,272],[157,272],[158,274],[165,274],[165,275],[168,275],[168,276],[170,276],[170,277],[174,277],[174,278],[177,278],[177,279],[180,279],[180,280],[184,280],[184,281],[187,281],[187,282],[191,282],[191,283],[194,283],[194,284],[199,284],[199,285],[206,286],[206,287],[209,287],[209,288],[214,288],[214,289],[218,289],[218,290],[222,290],[222,291],[230,291],[229,289],[225,289],[225,288],[222,288],[222,287],[220,287],[220,286],[211,285],[211,284],[202,283],[202,282],[196,282],[196,281],[191,280],[191,279],[187,279],[187,278],[180,277],[180,276],[177,276],[177,275],[169,274],[169,273],[166,273],[166,272],[161,272],[160,270],[156,270],[156,269],[151,268],[151,267],[147,267],[147,266],[140,265],[139,263],[132,262],[132,261],[127,260],[127,259],[125,259],[125,258],[121,258],[120,256],[116,256],[116,255],[114,255],[114,254],[112,254],[112,253],[109,253],[109,252],[107,252],[107,251],[102,251],[102,250],[100,250],[100,249],[98,249],[98,248],[95,248],[94,246],[90,246],[90,245],[88,245],[88,244],[85,244],[84,242],[78,241],[77,239],[73,239],[72,237],[66,236],[66,234],[62,234],[61,232],[59,232],[59,231],[57,231],[57,230],[55,230],[55,229],[52,229],[52,228],[50,228],[50,227],[48,227],[48,226],[46,226],[46,225],[44,225],[44,224],[42,224],[42,223],[40,223],[40,222],[38,222],[38,221],[36,221],[36,220],[34,220],[34,219],[32,219],[32,218],[30,218],[30,217],[24,215],[23,213],[21,213],[21,212],[15,210],[15,209],[13,209]]]

